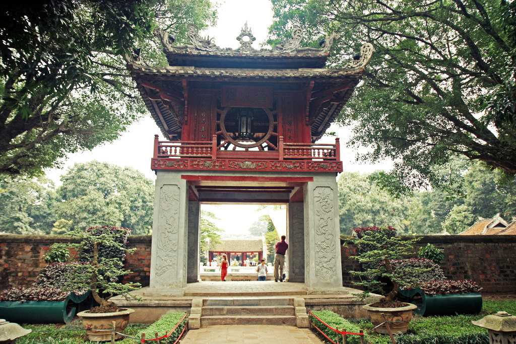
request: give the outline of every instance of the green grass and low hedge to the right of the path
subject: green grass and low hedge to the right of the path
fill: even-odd
[[[406,334],[396,336],[398,344],[488,344],[487,331],[475,326],[472,320],[478,320],[488,314],[494,314],[499,310],[505,310],[510,314],[516,314],[516,300],[484,300],[482,311],[477,315],[456,315],[443,317],[420,317],[415,316],[409,325]],[[329,312],[329,311],[320,311]],[[319,312],[314,312],[317,316]],[[332,312],[330,312],[332,313]],[[324,316],[324,314],[323,314]],[[335,317],[336,316],[336,317]],[[320,316],[319,316],[320,317]],[[345,320],[342,317],[327,315],[329,324],[333,327],[339,323],[339,329],[352,329],[348,323],[353,324],[354,329],[362,329],[366,332],[366,339],[371,344],[390,344],[389,336],[379,335],[373,332],[373,324],[368,320]],[[325,317],[320,317],[326,321]],[[337,318],[342,319],[338,320]],[[322,328],[321,328],[322,329]],[[349,336],[358,338],[358,336]],[[348,338],[349,338],[348,337]],[[334,339],[333,337],[330,337]],[[348,342],[349,339],[348,339]]]

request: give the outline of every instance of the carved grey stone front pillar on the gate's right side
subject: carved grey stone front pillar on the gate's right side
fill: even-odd
[[[342,287],[338,189],[334,175],[316,176],[304,190],[304,283]]]

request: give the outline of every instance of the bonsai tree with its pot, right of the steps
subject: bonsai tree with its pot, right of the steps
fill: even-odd
[[[380,301],[364,306],[375,326],[383,323],[375,331],[387,334],[385,322],[389,322],[392,333],[405,333],[417,307],[396,300],[399,286],[405,285],[405,281],[403,274],[396,273],[392,260],[411,255],[417,239],[399,237],[396,229],[389,226],[355,228],[349,241],[357,249],[357,255],[351,258],[361,265],[361,271],[350,273],[357,277],[353,283],[365,290],[362,297],[368,296],[369,292],[385,293]],[[413,271],[414,274],[423,272],[422,268]]]

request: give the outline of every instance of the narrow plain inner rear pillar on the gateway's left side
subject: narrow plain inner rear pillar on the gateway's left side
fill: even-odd
[[[199,282],[199,254],[205,254],[200,251],[200,230],[199,230],[199,216],[200,216],[199,202],[188,201],[188,269],[186,272],[186,282]]]

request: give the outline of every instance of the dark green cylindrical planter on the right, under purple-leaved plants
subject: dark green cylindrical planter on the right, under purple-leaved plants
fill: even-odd
[[[399,290],[398,296],[402,301],[415,304],[414,312],[422,316],[477,314],[482,309],[482,296],[476,292],[429,296],[420,288],[413,288]]]

